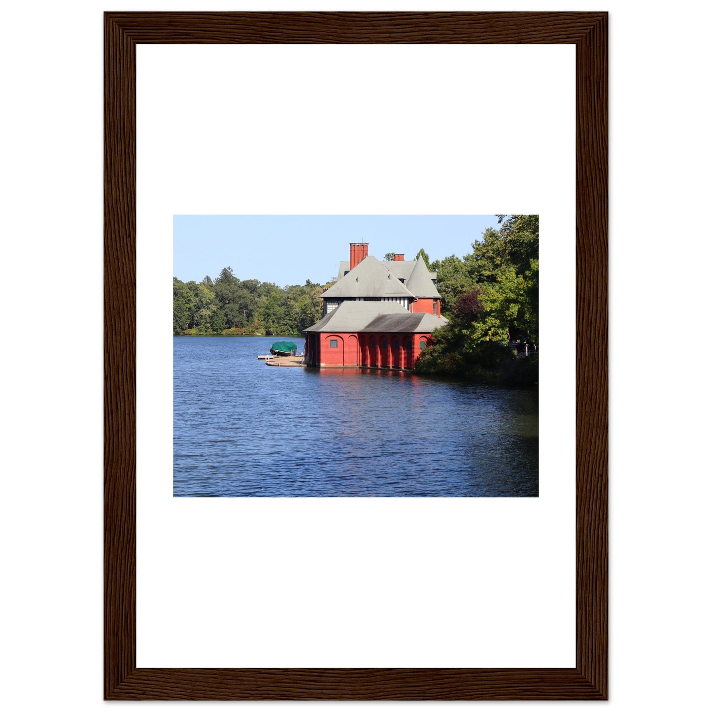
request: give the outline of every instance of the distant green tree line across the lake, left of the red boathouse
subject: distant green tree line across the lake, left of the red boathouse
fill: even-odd
[[[173,278],[175,335],[299,336],[320,320],[321,293],[327,285],[278,287],[256,279],[239,280],[224,267],[213,281]]]

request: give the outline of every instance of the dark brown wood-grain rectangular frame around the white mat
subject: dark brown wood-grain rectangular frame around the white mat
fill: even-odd
[[[607,14],[106,13],[105,699],[607,699]],[[136,667],[136,45],[576,46],[576,667]]]

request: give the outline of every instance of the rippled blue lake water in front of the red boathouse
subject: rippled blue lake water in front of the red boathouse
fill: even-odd
[[[278,340],[174,337],[174,496],[538,496],[537,392],[258,361]]]

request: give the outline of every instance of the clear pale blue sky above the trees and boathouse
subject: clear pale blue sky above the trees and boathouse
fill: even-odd
[[[173,274],[199,282],[229,266],[241,280],[323,284],[348,260],[350,242],[367,242],[380,260],[387,252],[412,260],[424,248],[432,261],[471,252],[488,227],[498,227],[496,216],[175,215]]]

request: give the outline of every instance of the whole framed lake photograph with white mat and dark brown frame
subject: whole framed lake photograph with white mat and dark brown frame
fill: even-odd
[[[607,698],[605,13],[105,14],[105,698]]]

